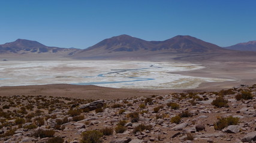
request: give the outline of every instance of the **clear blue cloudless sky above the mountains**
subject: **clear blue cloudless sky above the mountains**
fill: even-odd
[[[16,39],[88,48],[122,34],[147,41],[191,35],[219,46],[256,41],[254,0],[5,0],[0,44]]]

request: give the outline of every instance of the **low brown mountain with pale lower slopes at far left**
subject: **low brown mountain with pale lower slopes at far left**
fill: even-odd
[[[54,46],[46,46],[37,41],[29,41],[25,39],[17,39],[14,42],[0,45],[0,54],[61,54],[73,55],[80,49],[74,48],[58,48]]]

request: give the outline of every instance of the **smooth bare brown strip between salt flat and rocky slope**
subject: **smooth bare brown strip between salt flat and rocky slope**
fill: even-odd
[[[94,85],[33,85],[2,86],[1,96],[11,95],[47,95],[53,97],[73,97],[81,99],[111,100],[118,98],[141,97],[150,95],[167,95],[176,90],[116,89]],[[177,90],[179,92],[179,90]]]

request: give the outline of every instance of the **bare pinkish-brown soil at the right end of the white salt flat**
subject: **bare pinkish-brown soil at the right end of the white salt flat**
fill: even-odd
[[[201,83],[197,89],[215,91],[220,89],[233,88],[234,86],[253,85],[256,83],[256,64],[254,62],[207,62],[202,64],[206,69],[173,72],[188,76],[215,77],[233,79],[227,82],[206,82]]]

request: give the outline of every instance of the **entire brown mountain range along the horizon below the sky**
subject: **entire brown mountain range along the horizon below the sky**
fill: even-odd
[[[37,41],[17,39],[14,42],[0,45],[0,58],[13,56],[17,60],[23,60],[25,57],[34,56],[42,60],[49,59],[49,57],[79,60],[207,60],[220,56],[223,58],[223,55],[231,55],[231,58],[248,55],[255,57],[256,52],[239,52],[233,50],[236,48],[232,48],[252,47],[251,45],[255,43],[239,43],[226,49],[192,36],[179,35],[165,41],[144,41],[129,35],[120,35],[104,39],[86,49],[76,49],[46,46]]]

